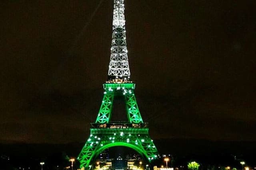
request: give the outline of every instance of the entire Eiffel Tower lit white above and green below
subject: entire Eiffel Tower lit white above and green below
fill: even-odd
[[[116,146],[136,150],[148,162],[158,158],[158,151],[148,134],[134,95],[135,84],[130,81],[126,47],[124,0],[114,0],[113,32],[108,80],[103,84],[104,96],[95,123],[91,123],[90,137],[78,156],[80,167],[90,169],[93,160],[105,149]],[[122,98],[126,104],[128,121],[110,121],[113,102]]]

